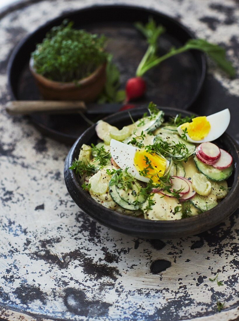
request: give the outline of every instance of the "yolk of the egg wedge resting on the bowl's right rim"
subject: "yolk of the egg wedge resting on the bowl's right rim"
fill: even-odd
[[[184,123],[180,126],[181,129],[187,128],[187,134],[193,140],[201,140],[209,134],[210,123],[206,116],[192,118],[192,123]]]

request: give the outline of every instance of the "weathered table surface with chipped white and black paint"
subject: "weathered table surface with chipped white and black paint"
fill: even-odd
[[[23,1],[0,14],[0,311],[7,320],[235,320],[238,211],[194,237],[133,239],[81,213],[63,180],[69,146],[9,117],[6,66],[14,46],[62,12],[125,3],[176,17],[198,37],[221,43],[238,68],[239,7],[219,0]],[[238,70],[238,69],[237,69]],[[193,109],[231,110],[238,140],[239,80],[210,65]],[[210,282],[219,273],[223,286]],[[217,310],[217,298],[225,302]]]

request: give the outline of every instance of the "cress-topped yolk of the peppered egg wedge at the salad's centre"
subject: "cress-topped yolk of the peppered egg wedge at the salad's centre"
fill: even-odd
[[[142,171],[143,176],[158,181],[165,173],[166,159],[154,154],[149,154],[144,150],[138,150],[134,155],[134,166],[138,171]]]

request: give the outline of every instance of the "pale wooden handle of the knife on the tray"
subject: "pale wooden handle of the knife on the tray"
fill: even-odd
[[[6,104],[6,111],[10,115],[27,115],[36,112],[70,112],[73,110],[86,111],[83,101],[62,100],[15,100]]]

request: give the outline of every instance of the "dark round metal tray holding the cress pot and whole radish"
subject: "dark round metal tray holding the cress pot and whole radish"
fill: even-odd
[[[160,37],[159,54],[172,46],[181,46],[194,35],[181,23],[162,13],[127,5],[94,5],[79,11],[64,14],[31,33],[13,51],[8,64],[8,81],[13,100],[38,100],[39,92],[30,74],[30,53],[41,42],[46,32],[59,25],[64,18],[74,21],[76,28],[104,33],[108,38],[108,50],[120,69],[122,88],[134,76],[147,44],[134,27],[134,22],[147,22],[152,17],[166,27]],[[154,101],[159,106],[188,109],[198,97],[206,75],[206,58],[199,51],[185,52],[172,57],[145,74],[147,96],[140,101]],[[93,120],[102,115],[91,117]],[[64,143],[73,143],[88,127],[80,115],[30,116],[31,121],[44,134]]]

